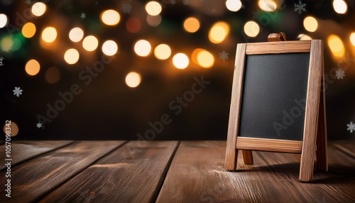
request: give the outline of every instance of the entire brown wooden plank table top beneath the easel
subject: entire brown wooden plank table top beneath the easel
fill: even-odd
[[[0,146],[5,160],[5,146]],[[253,151],[224,170],[226,141],[13,141],[0,202],[355,202],[355,143],[329,143],[329,171],[298,181],[300,155]],[[3,153],[4,152],[4,153]]]

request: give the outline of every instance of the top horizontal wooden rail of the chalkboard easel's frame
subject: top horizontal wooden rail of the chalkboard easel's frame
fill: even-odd
[[[246,55],[274,53],[309,53],[310,40],[246,44]]]

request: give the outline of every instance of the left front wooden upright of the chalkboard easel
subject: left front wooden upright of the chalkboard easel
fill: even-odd
[[[238,135],[239,114],[241,110],[241,94],[243,91],[244,63],[246,44],[236,47],[236,62],[234,67],[233,86],[231,89],[231,107],[229,111],[229,126],[226,138],[226,160],[224,167],[227,170],[236,169],[236,136]]]

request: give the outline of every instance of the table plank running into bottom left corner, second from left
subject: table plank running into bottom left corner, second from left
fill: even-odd
[[[11,198],[4,202],[35,202],[124,141],[80,141],[11,168]],[[0,173],[4,183],[5,171]],[[0,190],[5,197],[5,190]]]

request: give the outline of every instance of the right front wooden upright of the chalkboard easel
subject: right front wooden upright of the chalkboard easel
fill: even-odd
[[[302,155],[300,163],[301,182],[312,180],[315,160],[317,121],[320,106],[320,87],[323,65],[323,41],[311,40],[310,69],[308,73],[305,126],[303,130]]]

